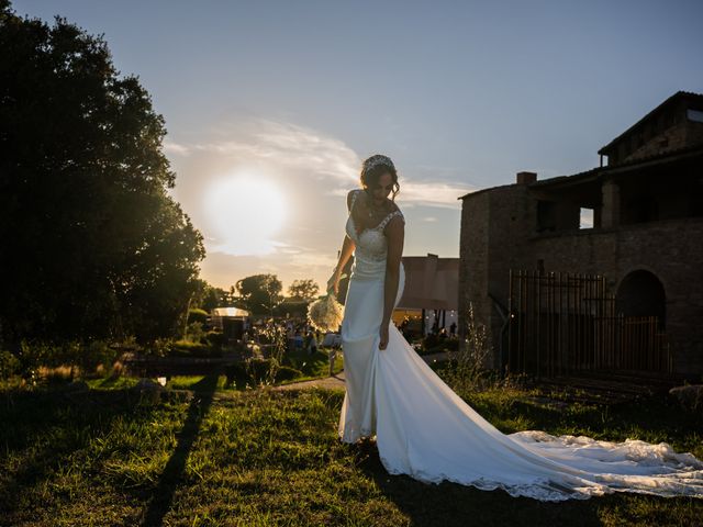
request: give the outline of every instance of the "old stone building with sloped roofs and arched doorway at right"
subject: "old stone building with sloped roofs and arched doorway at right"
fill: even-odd
[[[537,180],[534,172],[520,172],[513,184],[460,198],[459,318],[465,321],[470,302],[476,318],[487,326],[491,346],[488,366],[511,368],[512,361],[515,370],[516,359],[511,354],[517,332],[524,329],[515,329],[515,319],[526,315],[516,307],[517,290],[515,284],[511,290],[511,270],[513,277],[518,270],[536,277],[567,272],[602,277],[603,288],[598,294],[612,295],[613,316],[656,317],[656,333],[666,339],[668,370],[636,361],[628,362],[627,368],[700,380],[703,94],[674,93],[599,154],[601,166],[582,173]],[[602,318],[591,311],[588,300],[592,299],[584,299],[591,325],[578,337],[582,339],[592,337],[593,324]],[[555,313],[554,306],[543,310],[536,324],[542,321],[554,325],[556,321],[563,325],[565,321],[582,319],[572,313],[562,319]],[[549,329],[547,336],[544,329],[537,329],[542,344],[538,336],[538,344],[529,345],[538,348],[531,351],[537,354],[537,360],[546,360],[545,352],[542,358],[539,354],[548,339],[556,338],[560,340],[555,354],[565,363],[576,363],[567,357],[574,343],[561,341],[562,329]],[[465,325],[460,324],[464,334]],[[631,351],[639,352],[636,348]],[[601,370],[617,370],[621,363],[625,362],[595,357],[581,365],[585,369],[599,369],[600,365]]]

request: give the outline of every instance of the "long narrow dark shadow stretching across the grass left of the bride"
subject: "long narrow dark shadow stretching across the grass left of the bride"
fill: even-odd
[[[208,375],[192,385],[191,389],[196,394],[188,407],[186,422],[178,436],[178,445],[161,472],[142,525],[150,527],[164,524],[164,516],[170,508],[174,493],[186,469],[188,456],[198,437],[200,425],[212,405],[217,389],[217,374]]]

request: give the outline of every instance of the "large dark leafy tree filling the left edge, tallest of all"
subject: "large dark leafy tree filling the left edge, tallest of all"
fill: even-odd
[[[0,2],[0,339],[177,335],[204,248],[164,117],[102,37]]]

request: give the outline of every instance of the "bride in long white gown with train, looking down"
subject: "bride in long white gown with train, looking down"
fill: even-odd
[[[454,393],[391,324],[405,283],[404,217],[391,159],[366,159],[360,182],[347,197],[346,236],[327,283],[336,294],[354,253],[342,322],[342,441],[375,438],[389,473],[425,483],[447,480],[542,501],[614,491],[703,497],[703,462],[690,453],[639,440],[504,435]]]

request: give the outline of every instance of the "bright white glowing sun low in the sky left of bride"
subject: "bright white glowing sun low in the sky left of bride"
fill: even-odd
[[[248,175],[213,181],[204,197],[208,248],[237,256],[272,253],[280,244],[270,237],[283,224],[286,204],[283,193],[267,179]]]

